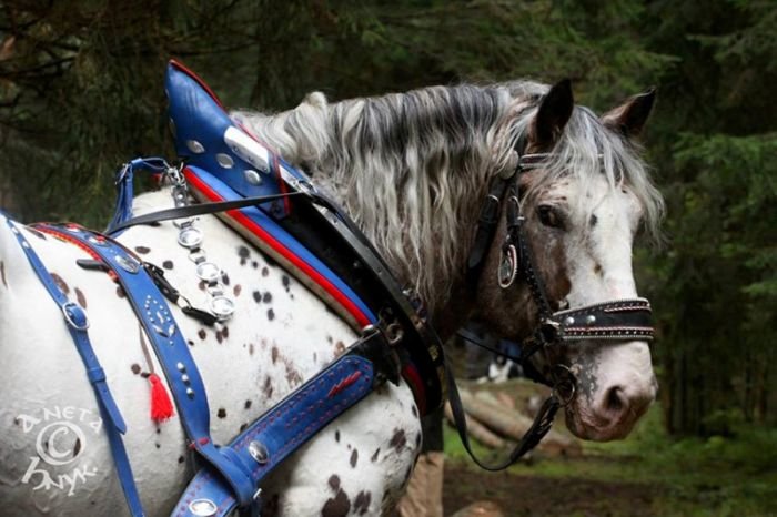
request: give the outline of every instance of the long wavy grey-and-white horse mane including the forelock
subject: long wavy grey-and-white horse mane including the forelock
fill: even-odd
[[[464,273],[490,180],[515,166],[515,144],[547,90],[531,81],[462,84],[337,103],[314,92],[290,111],[232,115],[333,194],[432,304]],[[603,172],[614,190],[633,189],[655,233],[662,199],[644,163],[591,111],[575,108],[554,153],[536,187]]]

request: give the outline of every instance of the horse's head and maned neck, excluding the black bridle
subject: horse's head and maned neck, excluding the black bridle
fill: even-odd
[[[314,93],[289,112],[234,116],[345,206],[421,293],[443,337],[474,314],[521,341],[537,327],[538,311],[525,282],[500,285],[506,210],[475,281],[467,274],[490,184],[518,179],[518,211],[549,308],[635,297],[632,243],[640,223],[655,230],[662,211],[634,141],[653,100],[653,92],[638,95],[599,119],[575,107],[568,81],[516,81],[333,104]],[[535,160],[518,174],[526,155]],[[533,362],[575,377],[567,422],[582,437],[625,436],[655,397],[644,341],[556,346]]]

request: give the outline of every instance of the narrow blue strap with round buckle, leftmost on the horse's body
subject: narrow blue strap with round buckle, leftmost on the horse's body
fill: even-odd
[[[121,484],[121,488],[124,493],[124,498],[127,499],[127,505],[130,508],[130,514],[133,517],[141,517],[144,515],[143,507],[140,501],[140,495],[138,494],[134,477],[132,475],[130,459],[127,456],[124,442],[121,437],[121,435],[127,432],[127,424],[124,424],[121,412],[119,410],[119,407],[113,401],[113,396],[108,388],[108,384],[105,383],[105,372],[100,366],[100,362],[94,354],[94,349],[92,348],[92,344],[89,339],[89,333],[87,332],[89,328],[89,320],[87,314],[78,304],[70,302],[60,291],[54,282],[54,278],[51,276],[38,254],[34,252],[27,239],[24,239],[24,235],[22,235],[16,224],[9,217],[6,217],[6,223],[17,237],[21,249],[24,251],[24,255],[27,255],[27,260],[30,262],[32,271],[34,271],[41,284],[43,284],[43,287],[46,287],[46,291],[48,291],[54,303],[62,311],[68,332],[70,332],[70,335],[73,338],[75,349],[81,356],[81,361],[87,368],[87,376],[94,389],[98,406],[100,407],[100,415],[103,422],[108,423],[108,425],[105,425],[108,442],[111,446],[111,454],[113,455],[113,463],[115,464],[119,483]]]

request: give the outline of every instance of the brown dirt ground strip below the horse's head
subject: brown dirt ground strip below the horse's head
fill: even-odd
[[[650,506],[655,490],[649,485],[634,483],[484,473],[446,462],[443,500],[448,517],[483,500],[494,503],[505,517],[642,517],[654,515]]]

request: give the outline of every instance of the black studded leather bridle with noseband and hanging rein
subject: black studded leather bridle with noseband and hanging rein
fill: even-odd
[[[586,341],[652,341],[654,334],[650,303],[646,298],[614,300],[553,311],[547,300],[545,283],[536,267],[532,247],[526,239],[525,217],[521,211],[521,201],[525,192],[522,192],[519,182],[524,172],[537,169],[551,154],[524,154],[524,149],[525,139],[522,139],[516,145],[518,163],[515,170],[492,181],[481,209],[475,241],[467,260],[467,280],[474,285],[482,276],[483,262],[504,213],[507,234],[502,243],[497,280],[502,288],[509,288],[518,280],[525,282],[532,294],[538,321],[531,336],[521,344],[521,356],[517,361],[529,378],[552,387],[553,394],[545,401],[534,424],[509,457],[497,465],[486,465],[472,454],[458,394],[455,389],[448,389],[451,407],[462,443],[475,463],[487,470],[506,468],[536,446],[551,429],[558,408],[568,404],[574,397],[576,379],[573,372],[562,363],[545,364],[543,372],[539,372],[531,361],[536,353],[542,351],[547,359],[547,352],[556,346],[572,346]],[[464,337],[472,341],[466,335]],[[448,375],[448,378],[452,377]]]

